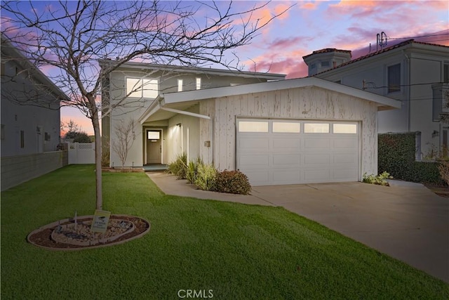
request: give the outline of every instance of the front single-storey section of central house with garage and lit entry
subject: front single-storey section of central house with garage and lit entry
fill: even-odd
[[[186,81],[195,82],[203,72],[192,70]],[[236,82],[235,73],[214,72],[229,74],[223,81]],[[251,77],[263,76],[237,74],[253,81]],[[122,81],[115,84],[122,89],[116,98],[124,93],[124,78],[120,74],[114,79]],[[401,103],[323,79],[262,79],[159,93],[145,110],[130,114],[139,116],[139,126],[137,147],[128,160],[168,163],[186,152],[189,159],[201,157],[219,170],[240,169],[252,185],[360,181],[364,173],[377,174],[377,111]],[[110,95],[114,103],[114,93]],[[126,115],[113,110],[111,126]]]

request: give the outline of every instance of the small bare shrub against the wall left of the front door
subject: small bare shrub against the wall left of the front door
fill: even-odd
[[[115,127],[115,133],[117,138],[112,141],[112,150],[114,150],[120,157],[121,169],[126,162],[126,157],[128,157],[128,151],[133,146],[135,141],[135,120],[129,119],[128,122],[121,119],[119,124]]]

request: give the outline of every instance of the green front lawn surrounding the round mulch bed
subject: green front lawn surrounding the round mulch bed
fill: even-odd
[[[181,289],[213,299],[449,299],[444,282],[286,209],[168,196],[142,173],[103,174],[103,208],[149,220],[144,237],[77,252],[28,244],[36,228],[93,214],[94,176],[91,165],[69,166],[1,193],[2,300],[178,299]]]

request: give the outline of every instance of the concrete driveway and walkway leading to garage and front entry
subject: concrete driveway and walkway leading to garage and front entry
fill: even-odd
[[[148,176],[168,195],[284,207],[449,282],[449,198],[421,184],[272,185],[231,195],[196,190],[168,174]]]

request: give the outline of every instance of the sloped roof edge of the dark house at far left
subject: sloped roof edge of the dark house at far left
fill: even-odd
[[[62,98],[64,100],[69,100],[69,96],[67,96],[56,84],[51,81],[46,74],[43,74],[41,70],[39,70],[38,67],[33,65],[29,59],[23,55],[23,53],[13,46],[11,42],[4,36],[4,34],[1,34],[1,51],[6,53],[8,56],[11,57],[11,60],[20,61],[20,63],[25,64],[25,68],[30,70],[33,74],[33,77],[35,77],[37,80],[41,81],[41,83],[45,86],[48,86],[49,89],[51,89],[51,92],[55,94],[56,97]]]

